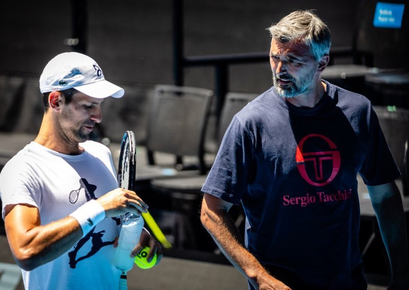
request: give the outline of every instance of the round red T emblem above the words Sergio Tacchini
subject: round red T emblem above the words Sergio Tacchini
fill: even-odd
[[[312,138],[319,138],[323,140],[326,144],[328,144],[328,150],[304,152],[303,150],[305,150],[305,143],[307,141],[310,141]],[[308,144],[309,142],[307,142],[307,145]],[[314,142],[314,144],[316,143]],[[335,146],[335,143],[332,142],[329,138],[319,134],[310,134],[305,136],[298,144],[296,162],[298,171],[305,181],[307,181],[311,185],[324,186],[330,183],[337,175],[341,164],[341,158],[339,151]],[[307,167],[309,168],[309,170],[307,170]],[[332,167],[332,170],[329,173],[329,171],[325,170],[324,167]],[[308,172],[311,171],[314,172],[312,178],[308,175]]]

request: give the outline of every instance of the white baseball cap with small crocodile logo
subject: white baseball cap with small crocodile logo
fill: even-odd
[[[97,99],[121,98],[124,89],[105,80],[102,69],[92,58],[80,53],[62,53],[44,67],[41,93],[75,88]]]

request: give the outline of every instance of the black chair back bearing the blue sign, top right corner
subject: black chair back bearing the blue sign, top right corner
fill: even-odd
[[[378,6],[378,4],[383,6]],[[405,5],[406,4],[406,5]],[[350,59],[353,64],[377,68],[409,69],[409,7],[407,0],[360,0],[354,8],[354,28],[348,47],[332,47],[329,65],[335,59]],[[398,5],[398,9],[385,9],[385,5]],[[382,27],[395,21],[399,23],[397,13],[403,6],[400,27]],[[406,6],[406,7],[404,7]],[[378,23],[374,23],[377,19]],[[345,19],[345,21],[348,21]],[[351,46],[351,47],[349,47]],[[391,56],[391,57],[387,57]],[[337,61],[338,63],[338,61]],[[340,63],[345,63],[340,62]],[[350,61],[348,62],[350,63]]]

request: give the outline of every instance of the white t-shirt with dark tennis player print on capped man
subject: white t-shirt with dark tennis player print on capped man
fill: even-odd
[[[18,152],[0,174],[3,219],[6,205],[30,204],[46,225],[117,188],[109,149],[94,141],[81,147],[72,156],[31,142]],[[106,218],[57,259],[22,270],[26,289],[117,289],[121,272],[111,261],[119,230],[119,219]]]

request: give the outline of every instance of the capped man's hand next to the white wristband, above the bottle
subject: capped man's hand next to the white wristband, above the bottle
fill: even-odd
[[[105,209],[107,217],[114,217],[126,212],[141,215],[148,212],[148,205],[132,190],[116,188],[103,195],[97,202]]]

